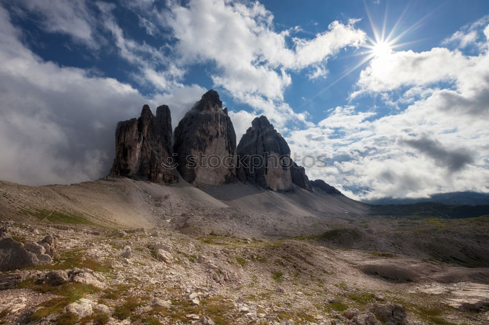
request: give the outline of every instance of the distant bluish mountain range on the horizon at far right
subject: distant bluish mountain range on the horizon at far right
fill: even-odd
[[[488,205],[489,193],[476,193],[476,192],[450,192],[433,194],[429,198],[417,198],[417,199],[394,199],[383,198],[377,200],[363,201],[370,204],[414,204],[424,202],[435,202],[445,204],[466,204],[466,205]]]

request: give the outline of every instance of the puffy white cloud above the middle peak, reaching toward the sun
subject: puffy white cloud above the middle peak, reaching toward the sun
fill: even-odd
[[[334,21],[328,30],[313,39],[287,40],[296,28],[276,32],[273,15],[259,2],[244,4],[224,0],[191,0],[188,5],[173,3],[160,17],[170,26],[180,56],[180,64],[212,62],[215,87],[251,105],[254,114],[265,114],[277,126],[288,121],[304,121],[283,101],[291,84],[289,71],[312,67],[311,78],[324,76],[328,58],[346,46],[358,46],[365,33],[355,29],[355,20]]]

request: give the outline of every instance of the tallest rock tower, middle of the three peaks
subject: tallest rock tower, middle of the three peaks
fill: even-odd
[[[212,186],[236,180],[236,133],[216,91],[209,90],[185,114],[174,139],[178,171],[188,183]]]

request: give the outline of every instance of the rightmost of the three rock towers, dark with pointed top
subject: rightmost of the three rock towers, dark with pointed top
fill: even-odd
[[[264,188],[287,191],[292,183],[312,190],[304,167],[290,159],[290,148],[265,116],[251,122],[237,148],[239,173]]]

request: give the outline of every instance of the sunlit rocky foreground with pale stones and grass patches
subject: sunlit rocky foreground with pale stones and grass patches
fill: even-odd
[[[487,268],[317,238],[2,224],[59,254],[1,273],[2,324],[489,323]]]

